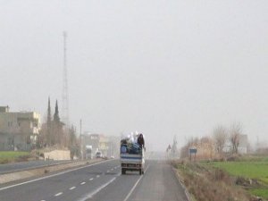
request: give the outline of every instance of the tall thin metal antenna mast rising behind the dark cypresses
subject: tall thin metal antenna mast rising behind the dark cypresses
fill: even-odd
[[[67,32],[63,31],[63,122],[69,128],[69,94],[67,80]]]

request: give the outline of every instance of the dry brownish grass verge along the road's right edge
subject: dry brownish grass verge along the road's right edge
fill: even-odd
[[[215,172],[213,166],[201,163],[172,162],[182,183],[197,201],[248,201],[249,195],[230,180],[227,172]]]

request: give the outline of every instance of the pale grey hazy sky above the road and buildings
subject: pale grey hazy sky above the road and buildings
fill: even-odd
[[[268,141],[268,1],[0,0],[0,105],[46,115],[63,95],[83,131],[177,136],[243,124]],[[53,111],[54,112],[54,111]],[[61,111],[60,111],[61,114]]]

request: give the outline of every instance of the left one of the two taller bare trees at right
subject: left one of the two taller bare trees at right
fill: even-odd
[[[227,130],[223,126],[214,129],[214,142],[218,154],[222,155],[222,150],[227,141]]]

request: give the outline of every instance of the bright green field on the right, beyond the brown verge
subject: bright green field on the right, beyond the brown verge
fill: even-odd
[[[261,181],[263,187],[252,188],[249,192],[255,196],[268,198],[268,157],[239,162],[214,162],[210,165],[220,168],[232,176]]]

